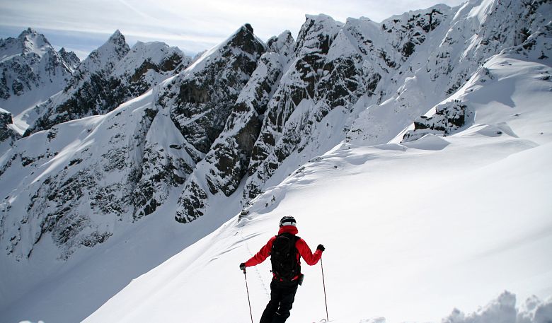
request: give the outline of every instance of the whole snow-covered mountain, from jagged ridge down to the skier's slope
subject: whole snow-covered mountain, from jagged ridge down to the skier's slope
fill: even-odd
[[[117,31],[23,138],[1,114],[13,147],[0,156],[0,318],[75,322],[101,307],[90,322],[243,322],[234,266],[288,213],[309,243],[333,246],[330,268],[360,262],[334,287],[342,322],[436,322],[505,288],[552,295],[551,6],[477,0],[381,23],[306,16],[297,40],[267,42],[246,24],[193,62],[159,42],[130,49]],[[491,258],[529,265],[490,279]],[[197,294],[216,286],[218,313]],[[381,297],[389,286],[398,296]],[[320,296],[301,293],[297,308]],[[505,322],[550,319],[551,303],[533,299],[516,321],[510,293],[496,302],[513,309]],[[292,322],[313,319],[301,313]]]

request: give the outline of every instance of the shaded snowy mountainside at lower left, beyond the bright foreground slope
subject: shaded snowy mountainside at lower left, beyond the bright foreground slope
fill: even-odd
[[[17,196],[11,201],[10,211],[21,214],[25,205],[33,206],[27,210],[30,216],[25,217],[26,228],[18,228],[21,223],[15,218],[3,217],[0,232],[6,238],[11,237],[15,253],[32,253],[33,257],[17,257],[17,262],[0,258],[0,322],[22,319],[79,322],[124,288],[132,277],[144,274],[216,230],[239,210],[221,204],[214,212],[225,209],[229,211],[226,217],[175,225],[178,195],[173,191],[157,216],[145,221],[134,223],[134,218],[123,211],[126,203],[122,200],[131,199],[132,190],[140,183],[133,182],[137,179],[132,173],[144,165],[144,157],[149,158],[144,153],[149,146],[169,148],[183,141],[180,133],[171,132],[170,127],[165,127],[164,133],[149,132],[152,124],[163,124],[168,119],[166,111],[156,113],[152,104],[155,95],[150,90],[108,114],[39,131],[18,141],[22,155],[10,150],[1,156],[1,163],[11,160],[16,164],[2,173],[2,181],[10,185],[0,187],[3,196],[9,193]],[[101,158],[90,158],[88,154]],[[20,165],[18,158],[30,162]],[[122,168],[121,163],[132,167]],[[26,167],[34,171],[23,177],[21,173]],[[106,170],[105,177],[100,176]],[[147,174],[149,170],[143,170],[143,176]],[[6,191],[12,182],[18,181],[22,182],[21,187],[33,187],[34,195],[28,194],[29,189]],[[49,185],[64,187],[63,194],[69,198],[52,194],[47,203],[35,204],[37,196],[51,192],[47,189]],[[90,190],[92,187],[98,190]],[[162,192],[157,190],[156,194]],[[74,199],[77,195],[90,199]],[[64,211],[52,211],[52,207],[57,207],[55,204],[67,207]],[[94,211],[98,207],[105,211]],[[0,204],[0,208],[6,208],[6,204]],[[36,213],[35,208],[39,209]],[[52,223],[49,220],[52,217],[62,219],[59,225],[48,224]],[[101,244],[111,235],[113,239]],[[60,241],[68,247],[61,253]],[[98,248],[91,248],[98,243]],[[70,305],[71,310],[61,312],[61,304]]]

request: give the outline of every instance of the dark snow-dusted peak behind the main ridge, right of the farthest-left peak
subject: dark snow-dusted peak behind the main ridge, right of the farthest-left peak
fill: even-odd
[[[137,42],[130,49],[117,30],[82,61],[63,93],[39,107],[40,118],[24,135],[110,112],[178,73],[190,61],[180,49],[162,42]]]

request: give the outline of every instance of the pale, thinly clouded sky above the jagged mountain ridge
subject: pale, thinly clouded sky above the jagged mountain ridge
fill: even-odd
[[[193,55],[222,42],[244,23],[268,40],[284,30],[297,37],[305,14],[380,22],[437,3],[458,6],[464,1],[386,0],[382,6],[380,0],[0,0],[0,37],[17,37],[31,27],[57,49],[65,47],[84,59],[118,29],[130,46],[156,40]]]

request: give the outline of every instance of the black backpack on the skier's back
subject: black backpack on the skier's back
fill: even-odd
[[[295,242],[299,239],[290,233],[282,233],[272,242],[270,250],[272,273],[281,281],[292,281],[292,278],[301,273],[301,266],[297,261],[298,251],[295,247]]]

